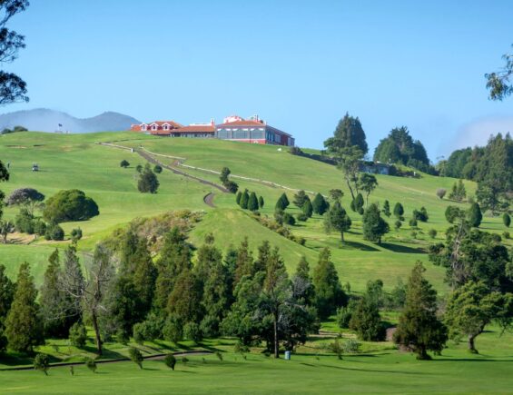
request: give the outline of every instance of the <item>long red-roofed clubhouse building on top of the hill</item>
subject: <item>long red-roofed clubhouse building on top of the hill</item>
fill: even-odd
[[[294,138],[289,133],[272,127],[258,115],[243,119],[238,115],[224,118],[221,124],[192,123],[183,126],[174,121],[133,124],[131,130],[168,137],[217,138],[244,143],[293,146]]]

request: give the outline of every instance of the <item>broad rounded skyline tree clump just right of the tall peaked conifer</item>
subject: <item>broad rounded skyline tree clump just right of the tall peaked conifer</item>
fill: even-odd
[[[373,160],[381,163],[402,163],[430,173],[426,149],[419,140],[414,141],[411,138],[406,126],[392,129],[389,136],[380,141],[374,151]]]

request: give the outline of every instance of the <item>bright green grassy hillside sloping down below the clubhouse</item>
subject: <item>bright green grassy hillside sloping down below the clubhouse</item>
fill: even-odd
[[[113,232],[113,229],[130,222],[135,217],[153,216],[161,212],[178,209],[204,211],[202,222],[192,230],[192,242],[201,243],[204,235],[213,232],[217,244],[223,249],[236,246],[245,236],[250,238],[253,249],[263,240],[281,248],[281,253],[288,268],[292,271],[301,255],[311,263],[317,260],[321,248],[329,246],[333,261],[340,273],[342,282],[350,282],[351,288],[361,291],[365,283],[380,278],[385,288],[390,289],[398,278],[405,278],[411,265],[417,260],[427,262],[425,250],[430,242],[428,231],[439,232],[439,240],[448,226],[444,218],[445,208],[449,204],[461,204],[439,200],[435,191],[439,187],[449,190],[455,182],[449,178],[433,177],[422,174],[419,179],[400,178],[378,175],[379,186],[370,195],[370,202],[402,202],[408,221],[413,209],[425,206],[429,212],[429,222],[420,223],[416,238],[411,236],[407,222],[400,232],[391,231],[382,244],[365,242],[361,235],[360,215],[350,212],[353,227],[347,234],[345,245],[340,244],[339,234],[326,234],[322,219],[314,216],[308,222],[299,222],[292,227],[292,232],[304,237],[306,243],[301,246],[281,237],[275,232],[256,222],[249,212],[242,211],[234,202],[234,196],[220,193],[215,188],[197,183],[182,175],[164,170],[159,175],[161,188],[157,194],[138,193],[136,188],[137,173],[134,168],[145,161],[137,153],[124,151],[98,142],[116,142],[117,144],[144,148],[153,153],[181,156],[186,164],[219,171],[228,166],[233,174],[253,177],[278,183],[295,189],[305,189],[327,194],[332,188],[340,188],[346,194],[342,204],[349,207],[350,196],[342,181],[340,171],[330,164],[317,162],[308,158],[294,156],[279,150],[276,146],[234,143],[219,140],[159,138],[142,133],[92,133],[92,134],[54,134],[54,133],[15,133],[0,138],[0,158],[10,163],[11,180],[2,184],[5,193],[15,188],[31,186],[47,197],[61,189],[77,188],[94,198],[100,207],[100,215],[87,222],[67,222],[64,231],[70,232],[80,226],[84,239],[79,247],[90,250],[94,243]],[[130,168],[123,169],[119,163],[126,159]],[[172,159],[159,157],[163,163],[173,163]],[[40,172],[32,172],[32,163],[38,163]],[[214,183],[219,183],[218,176],[212,173],[186,170]],[[281,193],[281,188],[262,183],[237,180],[241,188],[248,188],[264,197],[266,202],[262,214],[272,215],[274,203]],[[473,194],[475,184],[466,182],[467,191]],[[286,191],[290,200],[291,191]],[[216,208],[203,202],[207,193],[215,193]],[[292,206],[292,205],[291,205]],[[299,212],[291,207],[290,212]],[[6,218],[14,218],[17,209],[7,208]],[[395,220],[390,218],[390,227]],[[502,232],[498,218],[485,218],[483,229]],[[62,247],[65,242],[45,242],[26,238],[20,243],[0,246],[2,262],[8,272],[14,275],[17,266],[24,261],[34,267],[35,278],[42,280],[46,257],[52,249]],[[439,289],[445,291],[443,271],[431,264],[427,276]]]

